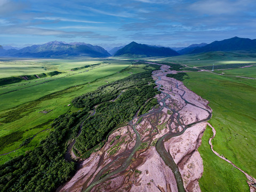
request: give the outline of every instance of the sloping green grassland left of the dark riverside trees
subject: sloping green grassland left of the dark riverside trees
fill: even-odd
[[[54,65],[55,62],[53,63]],[[74,60],[71,62],[75,63]],[[62,74],[53,77],[33,79],[1,87],[0,138],[3,140],[5,137],[6,142],[0,149],[0,154],[19,148],[21,143],[27,138],[49,129],[52,123],[49,120],[53,120],[59,115],[79,110],[79,108],[72,105],[67,106],[78,95],[94,91],[99,86],[125,78],[131,74],[152,69],[146,65],[131,65],[130,61],[113,60],[103,63],[104,61],[93,60],[91,62],[91,60],[86,60],[83,62],[83,65],[88,65],[89,63],[91,65],[95,63],[102,64],[70,71],[71,68],[83,66],[81,62],[78,61],[75,65],[69,65],[68,70],[60,70]],[[40,113],[43,110],[51,111],[47,114]],[[28,145],[15,150],[13,153],[0,156],[0,163],[4,163],[15,156],[32,150],[50,131],[41,132]],[[12,134],[12,139],[6,138]],[[15,135],[19,135],[19,137]]]

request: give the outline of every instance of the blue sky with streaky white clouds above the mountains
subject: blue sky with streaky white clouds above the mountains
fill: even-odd
[[[132,41],[188,46],[255,38],[254,0],[0,0],[0,45],[85,42],[109,49]]]

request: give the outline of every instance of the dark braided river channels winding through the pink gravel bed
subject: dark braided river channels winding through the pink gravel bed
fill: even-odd
[[[159,65],[158,63],[153,63],[153,64]],[[184,106],[182,108],[177,109],[175,107],[171,108],[169,105],[166,105],[166,100],[167,99],[172,100],[172,96],[170,94],[168,94],[166,91],[164,91],[163,89],[161,89],[161,87],[163,85],[161,83],[159,83],[162,80],[161,77],[164,77],[165,76],[164,74],[166,74],[166,70],[164,70],[163,67],[165,67],[165,69],[166,69],[167,66],[161,65],[161,70],[158,70],[157,73],[155,73],[155,71],[154,71],[153,75],[152,75],[156,79],[155,84],[158,86],[157,87],[158,91],[161,91],[161,94],[164,95],[163,98],[158,101],[159,107],[154,108],[153,110],[150,110],[148,113],[140,115],[140,116],[138,116],[137,115],[138,113],[137,113],[133,117],[133,119],[129,122],[129,124],[127,125],[127,126],[130,126],[132,128],[133,132],[136,134],[135,145],[131,149],[127,149],[127,150],[123,151],[123,153],[120,153],[120,154],[116,155],[111,162],[109,162],[108,164],[106,164],[105,166],[100,168],[100,165],[103,162],[103,159],[104,159],[104,156],[105,156],[105,152],[103,152],[103,154],[101,154],[101,157],[100,157],[100,160],[99,160],[99,163],[98,163],[98,167],[96,169],[96,170],[98,170],[98,169],[100,169],[100,170],[98,170],[97,174],[95,174],[95,175],[92,174],[84,182],[83,187],[82,187],[82,191],[84,191],[84,192],[91,191],[95,186],[98,186],[98,185],[100,185],[100,183],[103,183],[107,180],[110,180],[110,179],[113,179],[113,178],[117,177],[118,173],[124,172],[127,169],[127,167],[129,167],[129,165],[132,162],[132,158],[134,158],[134,154],[138,151],[138,149],[140,148],[141,143],[142,143],[142,141],[141,141],[141,136],[142,135],[140,135],[140,133],[138,132],[137,126],[141,124],[143,119],[150,120],[150,117],[156,116],[157,114],[162,113],[162,110],[164,108],[167,108],[170,111],[172,111],[172,115],[171,115],[170,119],[172,119],[171,123],[174,121],[174,119],[175,119],[175,121],[177,121],[177,123],[175,124],[175,126],[176,126],[175,130],[176,131],[173,132],[173,131],[170,130],[169,132],[164,134],[162,137],[160,137],[156,142],[156,150],[157,150],[157,153],[163,159],[164,163],[167,166],[169,166],[170,169],[172,170],[172,172],[174,174],[174,177],[175,177],[175,180],[177,182],[178,191],[186,191],[185,187],[183,186],[183,180],[182,180],[182,176],[181,176],[180,171],[179,171],[179,167],[174,162],[174,159],[171,156],[171,154],[168,153],[168,151],[165,149],[164,142],[168,141],[169,139],[171,139],[173,137],[177,137],[177,136],[181,135],[182,133],[184,133],[186,131],[186,129],[188,129],[189,127],[191,127],[191,126],[193,126],[197,123],[206,122],[207,120],[209,120],[211,118],[212,114],[211,114],[210,110],[199,107],[199,106],[195,105],[194,103],[191,103],[191,102],[187,101],[186,99],[184,99],[183,97],[186,94],[186,91],[183,90],[179,86],[179,84],[177,83],[175,85],[175,88],[180,90],[180,92],[181,92],[181,94],[179,94],[179,98],[181,98],[180,99],[181,102],[186,103],[185,105],[189,104],[189,105],[192,105],[194,107],[205,110],[205,111],[207,111],[207,114],[208,114],[205,119],[201,119],[201,120],[196,119],[195,122],[187,124],[187,125],[185,125],[183,123],[183,121],[180,122],[180,113],[179,113],[179,111],[182,110],[182,108]],[[172,73],[172,71],[170,71],[170,73]],[[81,125],[81,127],[82,127],[82,125]],[[155,126],[153,126],[153,127],[154,127],[154,129],[156,129]],[[150,132],[150,134],[153,133],[154,129]],[[149,139],[147,139],[147,140],[149,140]],[[145,141],[143,141],[143,142],[145,142]],[[104,174],[104,173],[107,172],[107,170],[109,170],[111,165],[120,161],[120,159],[122,159],[121,165],[119,165],[115,169],[112,169],[111,172],[108,172],[107,174]],[[92,178],[93,178],[93,180],[92,180]]]

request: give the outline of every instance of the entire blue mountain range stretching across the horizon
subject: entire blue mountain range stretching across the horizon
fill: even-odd
[[[212,51],[242,51],[256,53],[256,39],[233,37],[222,41],[214,41],[210,44],[201,43],[193,44],[184,49],[170,47],[138,44],[132,42],[125,46],[114,47],[109,52],[101,46],[94,46],[86,43],[65,43],[53,41],[42,45],[27,46],[22,49],[9,49],[0,45],[0,57],[35,57],[35,58],[51,58],[51,57],[110,57],[111,55],[118,57],[172,57],[180,54],[198,54]],[[181,47],[180,47],[181,48]],[[7,50],[8,49],[8,50]]]

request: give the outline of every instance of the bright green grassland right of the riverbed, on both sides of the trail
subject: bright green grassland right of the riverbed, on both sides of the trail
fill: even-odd
[[[244,69],[236,69],[244,70]],[[219,154],[237,165],[248,174],[256,177],[255,140],[256,140],[256,81],[237,77],[220,76],[207,72],[190,72],[185,85],[188,89],[208,100],[212,108],[210,123],[217,131],[213,148]],[[233,166],[222,159],[213,157],[207,141],[210,131],[203,136],[199,148],[204,160],[204,173],[199,184],[205,191],[245,191],[249,190],[246,178]],[[241,183],[239,190],[235,183]],[[213,185],[213,181],[214,184]],[[225,185],[223,185],[225,183]],[[217,187],[218,186],[218,187]]]

